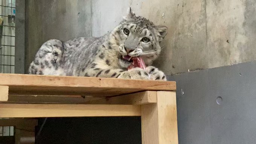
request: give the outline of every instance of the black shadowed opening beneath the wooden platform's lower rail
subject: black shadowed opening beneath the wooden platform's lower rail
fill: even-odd
[[[141,144],[140,117],[47,118],[36,144]]]

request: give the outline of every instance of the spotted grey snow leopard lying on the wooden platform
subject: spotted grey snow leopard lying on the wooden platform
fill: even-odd
[[[29,74],[166,80],[165,74],[151,65],[160,55],[160,42],[167,33],[166,26],[154,25],[129,8],[114,30],[101,37],[46,41],[30,64]],[[142,58],[145,70],[128,70],[132,57]]]

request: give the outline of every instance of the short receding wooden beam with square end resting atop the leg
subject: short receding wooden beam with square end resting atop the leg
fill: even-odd
[[[157,102],[157,92],[156,91],[143,91],[133,94],[125,94],[114,97],[105,97],[102,99],[92,99],[87,102],[82,102],[81,104],[97,104],[97,105],[145,105],[149,103]]]

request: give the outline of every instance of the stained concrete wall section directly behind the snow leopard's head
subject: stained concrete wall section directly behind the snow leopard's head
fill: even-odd
[[[175,0],[96,0],[92,4],[93,36],[112,30],[131,6],[136,14],[169,29],[155,66],[168,75],[208,68],[204,4],[204,0],[190,0],[189,5]]]

